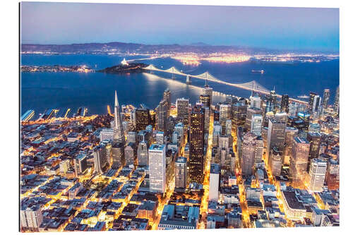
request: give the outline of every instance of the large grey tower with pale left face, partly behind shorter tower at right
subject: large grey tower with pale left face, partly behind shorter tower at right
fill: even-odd
[[[268,121],[268,135],[267,135],[267,147],[266,147],[266,162],[268,163],[270,150],[273,146],[276,146],[280,152],[285,148],[285,122],[278,121],[276,119],[270,119]]]

